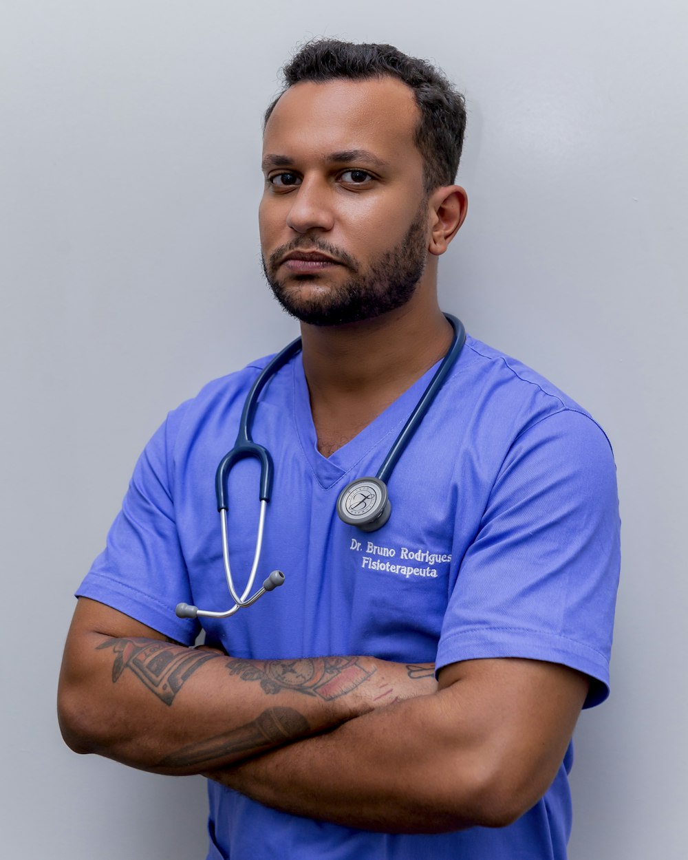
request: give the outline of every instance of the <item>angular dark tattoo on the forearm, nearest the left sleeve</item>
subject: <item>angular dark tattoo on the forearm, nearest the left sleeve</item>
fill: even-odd
[[[107,639],[96,650],[112,648],[114,651],[113,684],[120,679],[125,669],[132,673],[154,692],[165,704],[171,705],[176,694],[196,669],[214,660],[221,654],[195,651],[170,645],[163,640],[151,639]]]

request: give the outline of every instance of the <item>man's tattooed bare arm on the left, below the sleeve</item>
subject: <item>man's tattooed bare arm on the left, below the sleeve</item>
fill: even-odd
[[[237,660],[162,639],[68,638],[58,708],[80,753],[168,774],[230,765],[412,695],[369,657]]]

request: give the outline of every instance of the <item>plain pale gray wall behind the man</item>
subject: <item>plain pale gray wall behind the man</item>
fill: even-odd
[[[577,729],[571,857],[685,857],[687,24],[678,0],[3,0],[4,856],[205,856],[200,778],[62,745],[58,667],[146,439],[294,335],[259,276],[261,110],[292,47],[328,34],[465,90],[443,304],[614,443],[612,697]]]

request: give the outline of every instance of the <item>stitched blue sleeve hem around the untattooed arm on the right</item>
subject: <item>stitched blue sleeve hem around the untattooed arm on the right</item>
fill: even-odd
[[[461,630],[439,641],[435,673],[450,663],[519,657],[561,663],[591,679],[584,708],[605,701],[609,696],[609,663],[603,654],[584,642],[541,630],[480,628]]]

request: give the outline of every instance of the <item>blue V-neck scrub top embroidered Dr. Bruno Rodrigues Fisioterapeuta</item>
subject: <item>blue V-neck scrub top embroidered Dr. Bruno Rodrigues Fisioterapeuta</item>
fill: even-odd
[[[232,604],[224,581],[214,475],[267,359],[207,385],[170,413],[134,471],[107,548],[78,594],[192,644],[180,601]],[[591,678],[608,693],[619,568],[616,474],[605,434],[544,378],[470,336],[390,477],[390,520],[365,534],[335,512],[341,488],[375,475],[427,387],[431,368],[330,458],[316,448],[298,354],[267,385],[253,437],[275,476],[258,581],[286,583],[207,639],[254,659],[369,654],[435,662],[522,657]],[[230,563],[243,588],[255,548],[259,466],[228,487]],[[571,825],[562,767],[543,800],[500,830],[433,836],[362,832],[281,814],[209,783],[208,857],[566,857]]]

